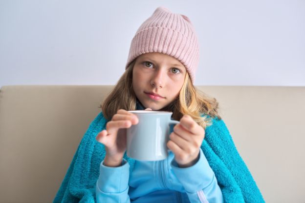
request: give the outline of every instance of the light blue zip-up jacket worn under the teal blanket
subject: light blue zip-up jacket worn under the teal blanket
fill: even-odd
[[[103,161],[104,162],[104,161]],[[222,203],[223,197],[213,170],[202,150],[191,167],[179,168],[174,153],[155,162],[135,161],[108,167],[101,162],[96,183],[97,203]]]

